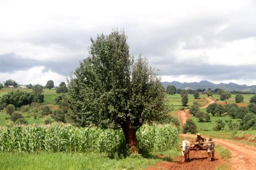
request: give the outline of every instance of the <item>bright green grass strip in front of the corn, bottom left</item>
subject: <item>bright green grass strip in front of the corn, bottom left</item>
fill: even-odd
[[[108,159],[99,153],[0,153],[0,169],[145,169],[162,161],[139,155],[126,159]]]

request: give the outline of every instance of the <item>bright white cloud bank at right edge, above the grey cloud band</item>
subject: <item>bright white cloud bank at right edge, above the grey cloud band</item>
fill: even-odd
[[[205,48],[186,48],[186,42],[180,42],[172,54],[177,62],[192,62],[194,65],[256,65],[256,38],[214,42]]]

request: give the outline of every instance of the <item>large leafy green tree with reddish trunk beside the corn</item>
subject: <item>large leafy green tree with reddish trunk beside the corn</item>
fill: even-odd
[[[88,58],[68,81],[69,115],[78,126],[121,128],[135,153],[139,127],[166,114],[160,79],[146,58],[133,62],[124,32],[91,42]]]

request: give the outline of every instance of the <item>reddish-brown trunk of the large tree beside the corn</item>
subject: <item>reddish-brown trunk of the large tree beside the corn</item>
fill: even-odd
[[[131,128],[129,124],[122,126],[123,133],[125,134],[125,141],[131,148],[131,153],[137,153],[137,129]]]

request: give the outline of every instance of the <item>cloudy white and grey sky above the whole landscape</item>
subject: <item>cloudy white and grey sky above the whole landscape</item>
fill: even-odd
[[[253,0],[0,0],[0,82],[59,85],[119,28],[162,81],[256,85],[255,18]]]

